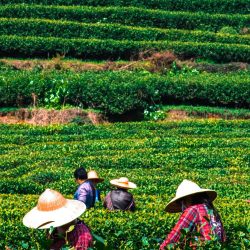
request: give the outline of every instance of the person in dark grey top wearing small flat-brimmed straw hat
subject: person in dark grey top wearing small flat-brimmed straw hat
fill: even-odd
[[[103,206],[109,210],[135,210],[135,202],[133,195],[128,192],[128,189],[136,188],[133,182],[128,178],[121,177],[120,179],[111,180],[110,183],[117,189],[110,191],[105,197]]]

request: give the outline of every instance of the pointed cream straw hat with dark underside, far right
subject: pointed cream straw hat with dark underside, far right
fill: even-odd
[[[179,201],[182,198],[202,193],[206,193],[208,195],[209,201],[211,202],[217,197],[216,191],[211,189],[203,189],[192,181],[183,180],[177,188],[175,197],[167,204],[165,210],[169,213],[181,212],[181,204]]]

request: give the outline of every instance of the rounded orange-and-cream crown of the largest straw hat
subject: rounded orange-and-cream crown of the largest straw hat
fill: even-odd
[[[53,211],[63,207],[67,200],[59,192],[46,189],[39,197],[37,209],[40,211]]]

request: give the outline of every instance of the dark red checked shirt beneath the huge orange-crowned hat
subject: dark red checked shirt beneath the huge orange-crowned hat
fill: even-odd
[[[53,233],[51,240],[50,250],[60,250],[66,244],[65,238],[59,237],[56,231]],[[67,241],[70,247],[74,247],[76,250],[87,250],[92,246],[93,238],[90,229],[83,221],[78,220],[75,228],[67,233]]]

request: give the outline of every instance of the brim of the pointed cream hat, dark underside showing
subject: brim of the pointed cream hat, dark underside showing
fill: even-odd
[[[209,201],[212,202],[216,199],[217,197],[217,193],[214,190],[211,189],[201,189],[198,192],[194,192],[191,194],[187,194],[187,195],[183,195],[180,197],[175,197],[173,198],[166,206],[165,211],[169,212],[169,213],[178,213],[181,212],[181,204],[180,204],[180,200],[189,196],[192,196],[194,194],[202,194],[202,193],[206,193],[208,195]]]

